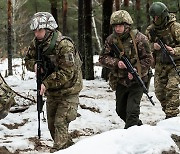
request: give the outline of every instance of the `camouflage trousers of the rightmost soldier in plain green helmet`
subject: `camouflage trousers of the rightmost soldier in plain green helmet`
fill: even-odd
[[[156,65],[154,86],[157,99],[160,101],[166,118],[179,114],[179,81],[172,65]]]

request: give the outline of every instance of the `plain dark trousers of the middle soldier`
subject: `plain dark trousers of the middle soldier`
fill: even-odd
[[[130,87],[118,84],[116,89],[116,112],[125,122],[125,129],[133,125],[142,125],[139,119],[142,95],[143,89],[136,83]]]

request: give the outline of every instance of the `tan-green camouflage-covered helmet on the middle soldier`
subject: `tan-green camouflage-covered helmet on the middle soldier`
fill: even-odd
[[[115,11],[110,18],[110,24],[111,25],[117,25],[127,23],[129,25],[133,24],[133,20],[130,16],[130,14],[125,10],[119,10]]]

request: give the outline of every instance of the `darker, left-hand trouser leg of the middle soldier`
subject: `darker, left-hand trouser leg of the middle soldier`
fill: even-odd
[[[127,87],[118,84],[116,89],[116,113],[126,123]]]

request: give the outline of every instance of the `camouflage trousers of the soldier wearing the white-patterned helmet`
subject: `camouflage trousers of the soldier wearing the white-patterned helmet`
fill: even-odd
[[[77,117],[78,104],[79,94],[47,97],[48,128],[54,140],[54,151],[67,148],[72,144],[68,127],[69,123]]]

